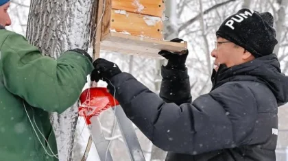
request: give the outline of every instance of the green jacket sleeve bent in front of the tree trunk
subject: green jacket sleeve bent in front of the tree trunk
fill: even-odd
[[[84,55],[67,51],[53,60],[14,32],[1,45],[0,61],[5,88],[48,112],[61,113],[72,106],[93,70]]]

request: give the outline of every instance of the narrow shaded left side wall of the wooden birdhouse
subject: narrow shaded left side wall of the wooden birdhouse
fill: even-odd
[[[104,11],[104,16],[102,18],[102,25],[101,25],[102,36],[109,34],[110,32],[111,11],[112,11],[111,1],[112,0],[105,0],[105,11]]]

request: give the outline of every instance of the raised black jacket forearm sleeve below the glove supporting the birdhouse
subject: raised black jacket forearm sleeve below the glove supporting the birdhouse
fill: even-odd
[[[185,71],[169,70],[162,66],[163,77],[160,87],[160,97],[167,103],[191,103],[191,88],[187,69]]]

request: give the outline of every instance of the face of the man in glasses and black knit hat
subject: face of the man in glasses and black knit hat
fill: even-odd
[[[245,53],[248,51],[245,51],[243,47],[239,47],[225,38],[217,38],[215,45],[217,46],[211,52],[211,56],[215,58],[215,71],[218,70],[220,64],[226,64],[229,68],[242,64],[248,58],[248,53]]]

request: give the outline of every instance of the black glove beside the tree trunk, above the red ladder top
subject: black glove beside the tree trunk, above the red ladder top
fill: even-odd
[[[101,58],[95,60],[93,66],[95,69],[91,73],[91,81],[95,82],[99,82],[100,79],[106,81],[122,72],[117,64]]]

